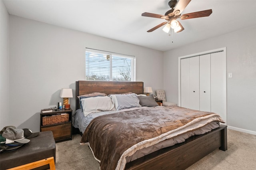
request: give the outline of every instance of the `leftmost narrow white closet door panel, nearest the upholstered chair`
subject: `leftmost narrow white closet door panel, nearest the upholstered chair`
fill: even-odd
[[[189,58],[180,60],[180,106],[189,108]]]

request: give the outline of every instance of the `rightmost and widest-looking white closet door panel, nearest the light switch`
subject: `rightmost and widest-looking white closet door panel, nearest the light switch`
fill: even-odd
[[[226,53],[211,53],[211,111],[226,121]]]

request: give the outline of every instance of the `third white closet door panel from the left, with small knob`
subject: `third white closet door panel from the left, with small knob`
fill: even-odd
[[[200,55],[200,111],[211,111],[211,55]]]

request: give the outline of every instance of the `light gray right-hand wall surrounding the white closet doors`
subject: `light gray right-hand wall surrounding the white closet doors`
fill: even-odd
[[[227,73],[233,73],[227,78],[227,125],[256,134],[256,26],[164,52],[167,101],[178,103],[178,57],[221,47]]]

